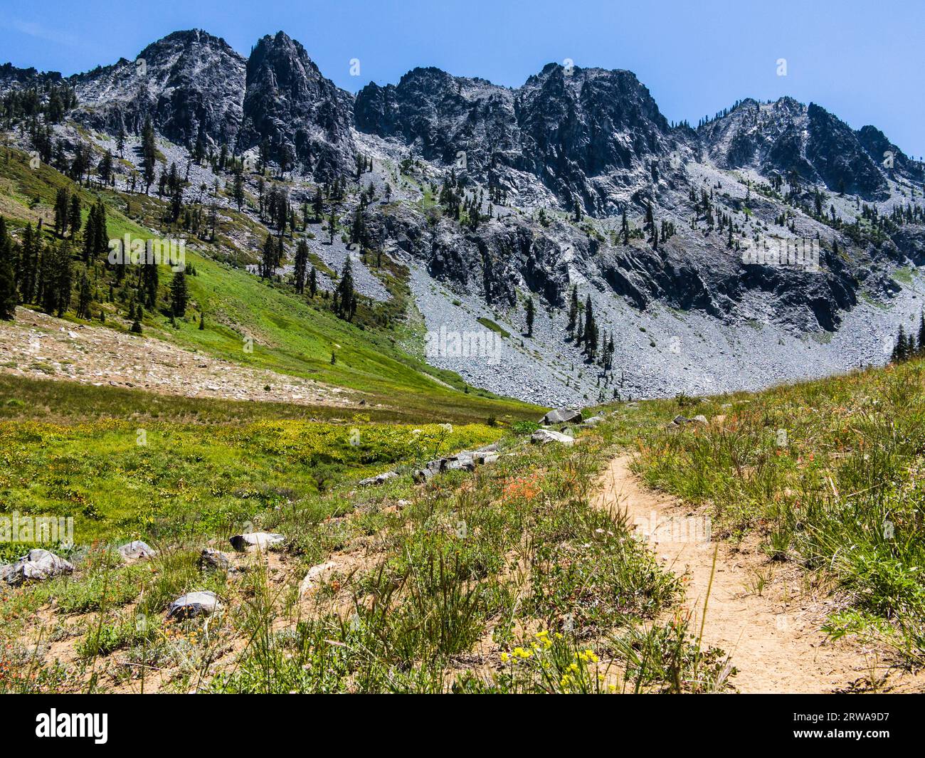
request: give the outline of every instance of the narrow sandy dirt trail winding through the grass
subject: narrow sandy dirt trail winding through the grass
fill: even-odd
[[[771,563],[757,549],[757,540],[736,547],[703,541],[702,516],[669,495],[649,491],[630,471],[631,460],[623,456],[611,461],[597,504],[626,513],[631,528],[651,535],[660,563],[686,574],[685,607],[692,612],[695,633],[713,574],[704,647],[717,646],[731,656],[738,669],[732,680],[736,690],[867,690],[871,679],[887,674],[888,656],[882,651],[825,640],[820,624],[833,611],[833,601],[822,591],[816,596],[796,566]],[[763,584],[759,578],[764,578]],[[888,681],[886,690],[899,684],[894,676]],[[911,682],[903,684],[905,690]],[[913,689],[919,688],[920,683]]]

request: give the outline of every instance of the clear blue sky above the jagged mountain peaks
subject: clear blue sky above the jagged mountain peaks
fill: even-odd
[[[398,81],[415,66],[518,86],[549,61],[571,58],[634,71],[670,120],[696,125],[737,99],[790,94],[856,129],[872,123],[910,155],[925,155],[919,2],[31,0],[6,6],[0,62],[70,74],[197,27],[244,56],[264,34],[287,31],[351,92]],[[779,58],[786,76],[777,74]]]

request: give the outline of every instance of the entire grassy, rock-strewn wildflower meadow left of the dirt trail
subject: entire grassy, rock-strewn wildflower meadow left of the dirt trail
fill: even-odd
[[[355,478],[385,461],[503,432],[367,424],[352,445],[343,426],[267,421],[210,428],[203,444],[204,427],[163,423],[140,449],[117,422],[7,426],[6,491],[28,487],[43,510],[52,497],[98,503],[79,541],[83,529],[121,540],[134,529],[159,553],[122,565],[78,548],[73,576],[9,592],[0,691],[690,691],[733,673],[722,652],[698,652],[680,617],[659,620],[679,580],[592,504],[616,452],[609,425],[562,448],[526,443],[522,424],[499,440],[511,454],[475,474],[360,490]],[[245,520],[284,534],[282,551],[204,571],[208,536],[227,550]],[[306,569],[332,557],[300,598]],[[166,620],[191,590],[215,591],[225,610]],[[29,623],[51,599],[54,621]],[[68,652],[49,655],[53,641]]]

